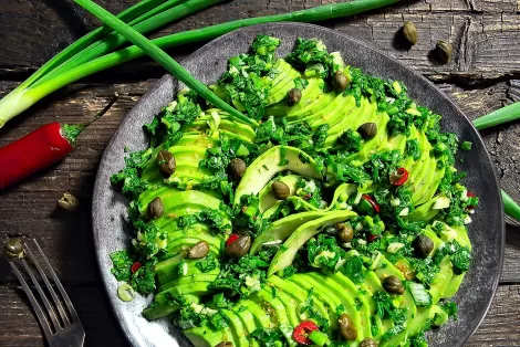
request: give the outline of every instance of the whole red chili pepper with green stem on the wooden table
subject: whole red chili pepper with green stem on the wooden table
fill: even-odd
[[[115,103],[115,96],[92,120],[80,125],[46,124],[6,147],[0,148],[0,189],[3,189],[61,159],[76,137]]]

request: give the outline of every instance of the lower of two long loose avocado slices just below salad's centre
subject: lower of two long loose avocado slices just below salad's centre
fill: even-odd
[[[300,225],[283,243],[283,246],[274,254],[271,265],[268,270],[268,276],[274,274],[278,271],[283,271],[285,267],[292,264],[294,255],[298,250],[309,239],[318,234],[320,231],[326,229],[330,225],[343,222],[356,213],[352,211],[331,211],[326,215],[316,219],[314,221],[306,222]]]

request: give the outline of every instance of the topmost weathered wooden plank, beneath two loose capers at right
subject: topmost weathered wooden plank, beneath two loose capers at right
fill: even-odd
[[[333,1],[232,1],[214,7],[197,15],[168,25],[157,34],[179,32],[233,19],[282,13]],[[17,72],[33,71],[95,27],[95,21],[77,8],[50,6],[50,1],[7,1],[0,9],[0,73],[21,78]],[[105,1],[113,12],[127,2]],[[370,15],[356,15],[322,23],[363,40],[389,53],[433,80],[454,77],[476,80],[520,76],[520,14],[513,1],[443,0],[414,1],[377,10]],[[471,9],[472,7],[472,9]],[[71,20],[73,19],[73,20]],[[395,33],[405,20],[414,21],[419,43],[410,50],[396,44]],[[21,23],[21,24],[20,24]],[[20,31],[10,30],[14,25]],[[428,59],[435,43],[448,40],[454,44],[449,64],[438,65]],[[189,49],[176,49],[174,56]],[[10,77],[10,78],[11,78]],[[157,76],[156,76],[157,77]]]

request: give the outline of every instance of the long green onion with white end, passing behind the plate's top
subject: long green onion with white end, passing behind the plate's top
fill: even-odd
[[[189,9],[188,4],[190,4],[191,1],[194,0],[187,1],[185,3],[186,8]],[[320,7],[306,9],[306,10],[300,10],[300,11],[275,14],[275,15],[259,17],[259,18],[248,18],[243,20],[231,21],[231,22],[201,28],[197,30],[175,33],[175,34],[170,34],[167,36],[152,40],[152,42],[155,43],[160,49],[170,49],[170,48],[175,48],[175,46],[183,45],[183,44],[211,40],[211,39],[218,38],[225,33],[228,33],[230,31],[233,31],[242,27],[249,27],[249,25],[261,24],[261,23],[281,22],[281,21],[290,21],[290,22],[322,21],[322,20],[329,20],[329,19],[334,19],[334,18],[355,15],[365,11],[370,11],[370,10],[374,10],[381,7],[393,4],[398,1],[399,0],[354,0],[351,2],[346,2],[346,3],[330,3],[330,4],[320,6]],[[143,2],[153,2],[153,1],[148,0],[148,1],[143,1]],[[143,2],[139,2],[139,4],[142,4]],[[160,1],[155,1],[155,2],[157,6],[157,3]],[[135,7],[137,6],[138,4],[136,4]],[[131,9],[128,9],[127,11],[129,11]],[[145,10],[141,9],[141,11],[144,12]],[[122,12],[118,17],[122,21],[131,18],[129,14],[127,14],[127,18],[122,18],[123,13],[125,12]],[[188,13],[186,13],[185,15],[187,14]],[[101,29],[103,29],[104,35],[111,32],[110,30],[106,29],[106,27],[102,27]],[[100,34],[95,36],[95,39],[100,39],[100,36],[103,38],[103,35]],[[133,45],[133,46],[128,46],[123,50],[110,53],[110,54],[98,56],[93,60],[89,60],[81,65],[71,63],[71,65],[69,65],[69,69],[62,67],[59,74],[58,73],[53,74],[52,77],[49,76],[44,80],[41,78],[42,76],[52,72],[53,69],[67,62],[72,56],[74,56],[79,52],[82,52],[82,49],[85,49],[90,44],[95,42],[94,38],[90,38],[89,40],[84,40],[84,38],[80,39],[79,41],[76,41],[76,43],[73,44],[73,45],[76,45],[74,50],[71,50],[70,52],[64,54],[63,52],[70,50],[69,48],[62,53],[60,53],[63,55],[63,57],[61,57],[60,60],[58,60],[56,62],[52,64],[50,64],[51,62],[49,62],[35,73],[38,74],[37,77],[33,77],[34,75],[31,76],[28,80],[30,81],[29,83],[28,81],[25,81],[18,88],[15,88],[10,94],[8,94],[2,99],[0,99],[0,127],[2,127],[8,120],[12,119],[13,117],[19,115],[23,111],[28,109],[38,101],[42,99],[43,97],[51,94],[52,92],[60,90],[83,77],[90,76],[94,73],[104,71],[110,67],[117,66],[119,64],[123,64],[125,62],[132,61],[134,59],[137,59],[146,54],[143,50]],[[79,44],[77,42],[82,40],[84,40],[85,42],[82,44]],[[56,57],[54,57],[53,60],[55,59]],[[41,80],[41,82],[38,83],[38,85],[35,84],[31,85],[37,80]]]

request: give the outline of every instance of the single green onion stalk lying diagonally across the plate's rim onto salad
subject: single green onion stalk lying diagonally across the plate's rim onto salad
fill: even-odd
[[[165,67],[169,73],[177,77],[177,80],[186,84],[199,96],[204,97],[206,101],[214,104],[218,108],[229,113],[237,119],[240,119],[248,124],[256,124],[254,120],[242,115],[240,112],[238,112],[238,109],[233,108],[220,97],[215,95],[205,84],[195,78],[186,69],[184,69],[179,63],[177,63],[165,51],[152,43],[148,39],[143,36],[132,27],[128,27],[127,24],[125,24],[125,22],[117,19],[117,17],[113,15],[112,13],[97,6],[96,3],[92,2],[91,0],[74,0],[74,2],[76,2],[85,10],[94,14],[98,20],[112,27],[115,31],[128,39],[128,41],[139,46],[152,59],[163,65],[163,67]]]

